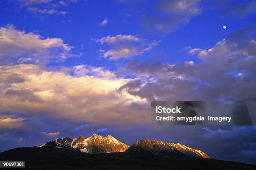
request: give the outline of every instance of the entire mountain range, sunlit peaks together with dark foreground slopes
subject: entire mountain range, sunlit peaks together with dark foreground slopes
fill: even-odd
[[[256,165],[209,159],[180,143],[138,140],[131,146],[113,136],[57,138],[40,146],[0,153],[1,161],[26,161],[29,170],[255,170]]]

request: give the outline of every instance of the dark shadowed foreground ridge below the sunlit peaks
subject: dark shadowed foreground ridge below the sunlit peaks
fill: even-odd
[[[256,165],[202,157],[159,160],[127,152],[89,154],[69,148],[24,147],[0,153],[2,161],[26,161],[32,170],[255,170]]]

